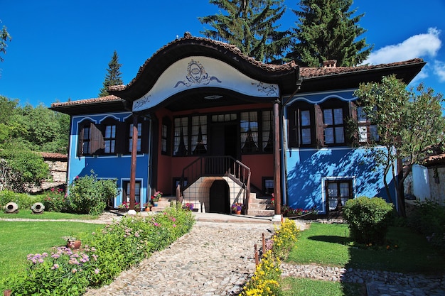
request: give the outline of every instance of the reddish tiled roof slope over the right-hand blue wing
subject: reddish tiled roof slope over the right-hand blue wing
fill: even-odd
[[[417,64],[419,62],[424,62],[424,60],[416,58],[412,60],[406,60],[403,62],[392,62],[389,64],[380,64],[380,65],[364,65],[357,67],[301,67],[300,75],[302,78],[322,77],[322,76],[338,75],[350,72],[382,69],[386,67],[397,67],[409,64]]]

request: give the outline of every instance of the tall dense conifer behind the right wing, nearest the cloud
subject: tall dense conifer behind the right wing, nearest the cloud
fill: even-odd
[[[304,67],[320,67],[323,61],[337,60],[338,66],[352,67],[366,60],[372,46],[365,38],[358,40],[365,29],[358,26],[364,13],[350,11],[353,0],[301,0],[301,10],[293,10],[298,21],[291,53]]]

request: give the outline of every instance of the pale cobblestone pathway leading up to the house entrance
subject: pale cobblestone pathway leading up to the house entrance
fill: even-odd
[[[254,272],[254,244],[270,223],[198,221],[169,248],[119,275],[111,285],[85,295],[236,295]]]

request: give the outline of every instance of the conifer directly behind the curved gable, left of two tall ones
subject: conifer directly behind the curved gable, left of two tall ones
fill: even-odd
[[[275,25],[284,11],[284,0],[210,0],[226,13],[198,18],[213,29],[201,32],[208,38],[235,45],[247,56],[262,62],[281,59],[289,47],[290,32]]]

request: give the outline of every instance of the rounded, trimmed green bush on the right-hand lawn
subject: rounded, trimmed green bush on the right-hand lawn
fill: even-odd
[[[394,207],[381,197],[349,199],[343,208],[350,236],[358,243],[385,243]]]

